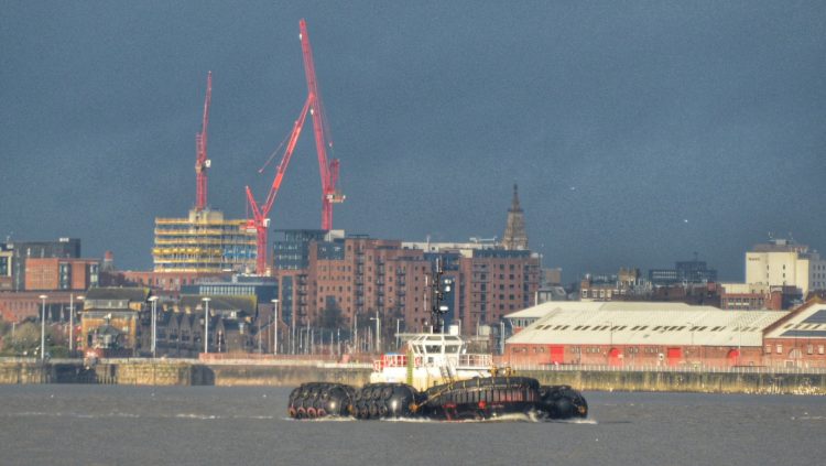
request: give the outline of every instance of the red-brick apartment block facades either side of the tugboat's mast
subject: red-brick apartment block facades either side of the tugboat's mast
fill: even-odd
[[[351,326],[356,315],[367,319],[379,311],[385,329],[395,330],[396,319],[404,323],[400,328],[406,332],[428,328],[432,262],[424,251],[403,249],[401,241],[357,237],[343,240],[343,257],[324,259],[316,245],[314,241],[309,248],[306,269],[275,268],[280,283],[292,278],[296,325],[319,325],[325,310],[336,308],[345,326]],[[461,322],[465,333],[474,332],[477,324],[498,325],[503,315],[534,304],[539,258],[526,251],[522,256],[501,250],[477,252],[458,257],[443,279],[454,282],[449,303],[454,321]],[[284,292],[280,288],[279,293]],[[280,296],[282,302],[284,297]]]

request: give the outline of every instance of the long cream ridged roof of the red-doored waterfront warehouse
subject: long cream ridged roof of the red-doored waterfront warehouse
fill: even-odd
[[[509,344],[762,346],[786,312],[722,311],[684,303],[544,303],[511,317],[539,317]]]

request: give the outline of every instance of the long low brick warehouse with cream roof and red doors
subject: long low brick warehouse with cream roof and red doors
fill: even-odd
[[[506,319],[515,330],[506,343],[504,358],[512,365],[826,366],[819,353],[826,304],[819,302],[791,314],[683,303],[548,302]]]

